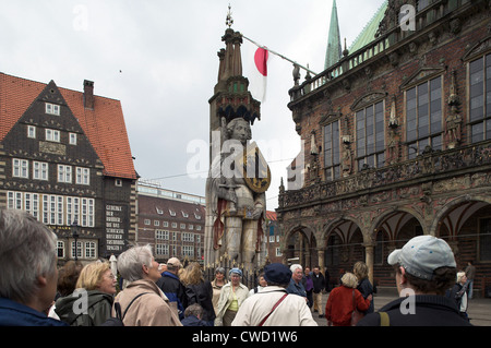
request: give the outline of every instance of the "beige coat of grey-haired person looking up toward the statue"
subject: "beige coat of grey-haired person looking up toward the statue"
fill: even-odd
[[[139,297],[131,304],[123,319],[124,326],[182,326],[179,317],[170,309],[169,300],[152,280],[131,283],[118,293],[115,302],[121,304],[121,312],[124,313],[134,297],[142,292],[148,293]],[[113,307],[112,315],[115,315]]]

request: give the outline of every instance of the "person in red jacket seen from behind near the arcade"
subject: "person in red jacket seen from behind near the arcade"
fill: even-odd
[[[325,317],[328,326],[350,326],[355,309],[367,311],[372,300],[371,295],[363,299],[361,292],[356,289],[358,279],[352,273],[346,273],[342,278],[342,284],[340,287],[331,291],[325,304]]]

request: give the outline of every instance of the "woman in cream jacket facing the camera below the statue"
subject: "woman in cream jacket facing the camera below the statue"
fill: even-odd
[[[237,311],[243,300],[249,297],[249,289],[242,283],[242,271],[231,268],[228,273],[230,281],[224,285],[218,300],[215,326],[231,326]]]

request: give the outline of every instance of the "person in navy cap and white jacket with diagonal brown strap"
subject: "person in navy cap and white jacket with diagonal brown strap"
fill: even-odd
[[[318,326],[304,298],[285,290],[291,279],[287,266],[267,265],[264,279],[267,286],[242,302],[232,326]]]

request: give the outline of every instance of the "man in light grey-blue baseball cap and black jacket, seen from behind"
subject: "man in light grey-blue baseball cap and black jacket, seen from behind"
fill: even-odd
[[[456,263],[448,244],[433,236],[418,236],[387,257],[394,266],[400,298],[358,326],[466,326],[455,301],[444,297],[455,283]]]

